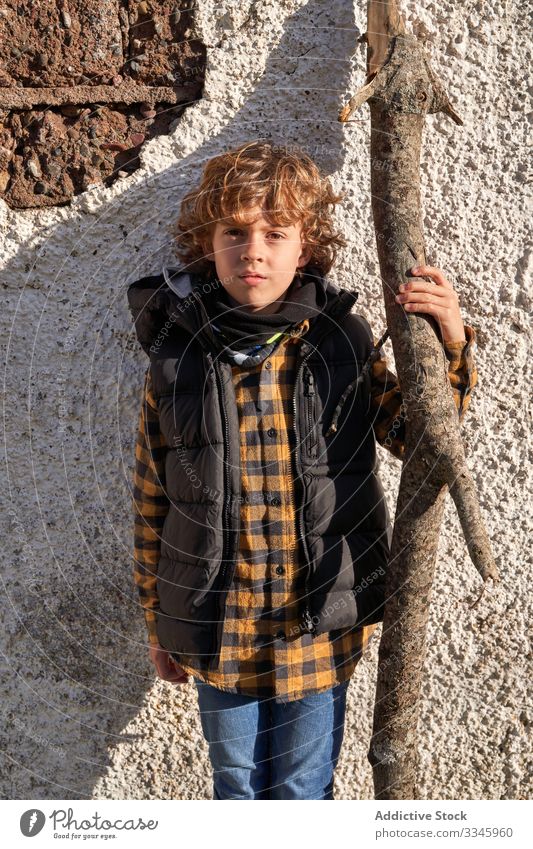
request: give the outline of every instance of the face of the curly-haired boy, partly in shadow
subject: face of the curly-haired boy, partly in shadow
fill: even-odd
[[[253,313],[277,312],[296,269],[309,262],[312,250],[302,243],[300,222],[273,226],[259,207],[249,210],[246,220],[246,225],[231,219],[217,222],[208,258],[235,306]]]

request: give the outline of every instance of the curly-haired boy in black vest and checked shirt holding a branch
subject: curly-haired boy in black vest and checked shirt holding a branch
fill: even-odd
[[[159,676],[197,687],[214,799],[333,799],[347,686],[383,618],[375,441],[401,457],[405,422],[357,295],[326,278],[340,199],[305,154],[242,145],[182,202],[182,269],[128,289],[150,357],[135,580]],[[412,273],[433,282],[399,308],[438,320],[462,417],[475,333],[439,269]]]

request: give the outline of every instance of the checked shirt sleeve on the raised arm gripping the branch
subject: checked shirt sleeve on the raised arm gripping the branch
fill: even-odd
[[[470,404],[472,389],[477,383],[475,344],[476,332],[469,325],[465,325],[464,340],[443,343],[448,360],[448,378],[460,422]],[[405,414],[402,410],[402,394],[398,378],[387,368],[385,357],[379,357],[373,363],[370,395],[370,412],[376,439],[380,445],[401,460],[405,450]]]

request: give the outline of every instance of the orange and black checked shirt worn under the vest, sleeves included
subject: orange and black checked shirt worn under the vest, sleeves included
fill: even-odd
[[[196,657],[179,655],[184,670],[212,686],[277,701],[301,699],[345,681],[377,627],[339,629],[315,637],[299,633],[298,598],[304,592],[304,569],[298,561],[289,431],[296,349],[308,327],[306,319],[259,365],[233,367],[240,423],[241,530],[227,596],[220,663],[217,670],[205,671]],[[465,326],[465,336],[466,342],[444,346],[460,419],[477,383],[473,328]],[[404,424],[402,421],[398,427],[396,421],[393,425],[400,415],[401,393],[384,357],[373,364],[371,396],[376,439],[401,457]],[[256,411],[262,403],[271,412],[258,417]],[[166,450],[148,369],[135,448],[134,578],[152,644],[157,644],[156,572],[169,503]],[[263,494],[269,491],[281,492],[282,497],[265,503]]]

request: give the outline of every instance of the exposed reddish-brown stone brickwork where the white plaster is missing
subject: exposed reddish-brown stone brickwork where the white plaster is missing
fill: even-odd
[[[193,12],[183,0],[4,4],[0,196],[9,206],[65,204],[139,167],[144,142],[201,97]]]

